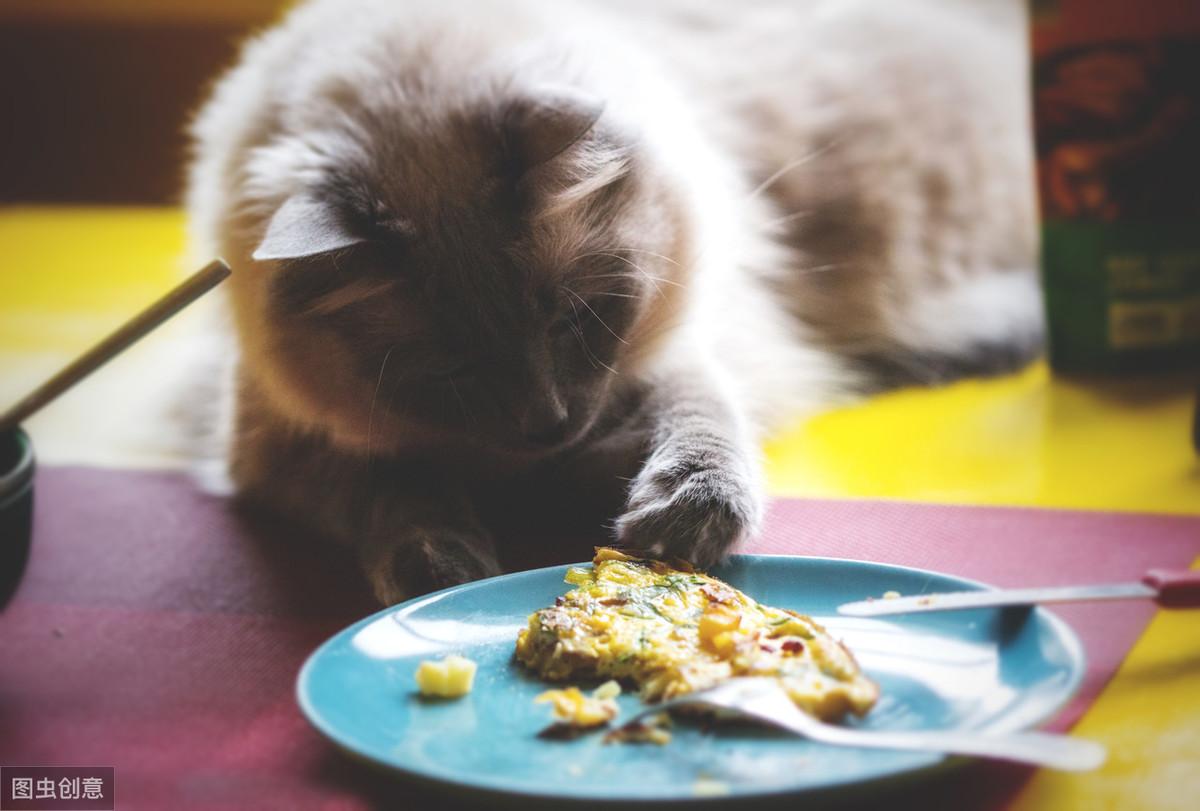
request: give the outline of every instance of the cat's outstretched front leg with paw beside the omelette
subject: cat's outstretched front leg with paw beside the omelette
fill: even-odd
[[[762,518],[758,449],[716,370],[677,362],[649,382],[648,453],[617,519],[620,546],[712,565]]]

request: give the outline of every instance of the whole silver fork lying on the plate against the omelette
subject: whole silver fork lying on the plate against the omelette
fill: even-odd
[[[731,710],[738,716],[763,721],[810,740],[836,746],[970,755],[1063,771],[1087,771],[1099,767],[1106,757],[1104,746],[1096,741],[1048,732],[869,732],[833,726],[799,709],[779,683],[768,677],[730,679],[715,687],[661,702],[635,715],[619,731],[664,710],[688,705]]]

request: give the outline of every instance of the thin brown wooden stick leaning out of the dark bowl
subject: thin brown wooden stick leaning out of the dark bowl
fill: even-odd
[[[16,427],[28,416],[83,380],[148,332],[215,288],[229,276],[229,266],[216,259],[180,282],[173,290],[125,322],[115,332],[72,361],[66,368],[0,414],[0,431]]]

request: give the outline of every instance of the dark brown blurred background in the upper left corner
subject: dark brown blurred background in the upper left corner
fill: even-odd
[[[176,202],[191,110],[286,5],[0,2],[0,202]]]

